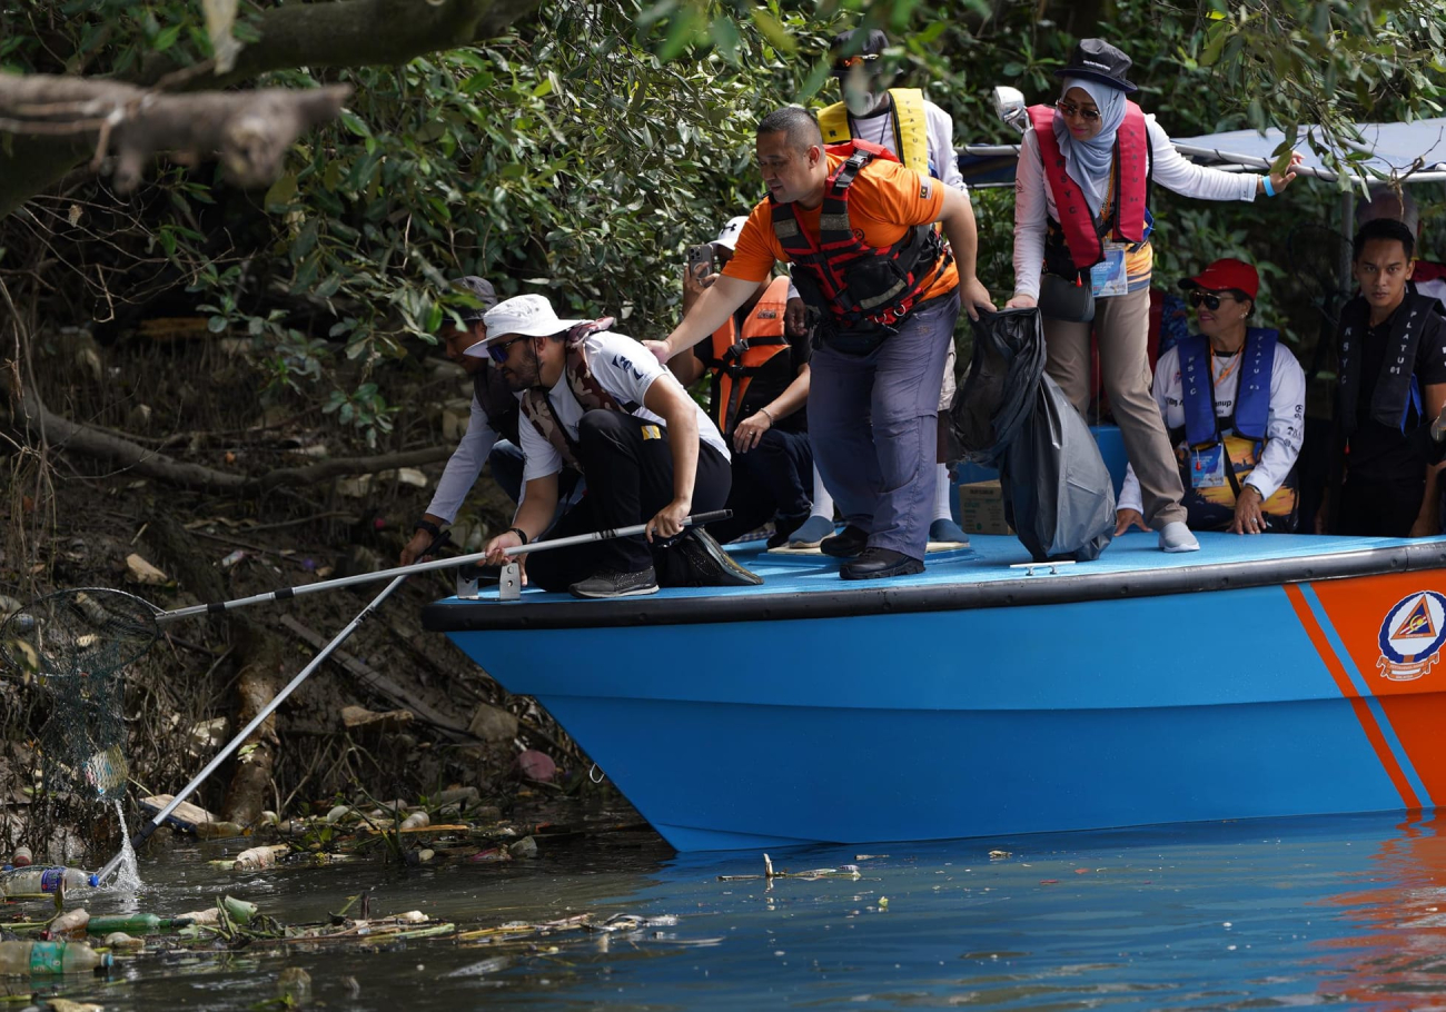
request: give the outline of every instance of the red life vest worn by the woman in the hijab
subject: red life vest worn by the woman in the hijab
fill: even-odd
[[[1064,243],[1074,269],[1089,270],[1105,259],[1103,236],[1111,224],[1116,240],[1145,241],[1150,130],[1139,106],[1132,101],[1125,103],[1125,120],[1115,133],[1115,171],[1111,173],[1113,191],[1105,197],[1112,221],[1106,223],[1096,221],[1083,191],[1066,171],[1064,152],[1060,150],[1060,139],[1054,136],[1054,107],[1030,106],[1028,111],[1030,123],[1034,126],[1034,137],[1040,142],[1044,178],[1050,181],[1054,210],[1060,215],[1058,224],[1064,231]],[[1045,259],[1050,259],[1048,252]]]

